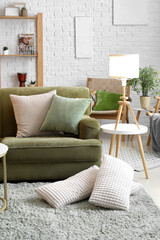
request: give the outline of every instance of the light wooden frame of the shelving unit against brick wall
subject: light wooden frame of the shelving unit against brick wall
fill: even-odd
[[[9,54],[0,55],[0,60],[3,57],[36,57],[36,73],[37,73],[37,86],[43,87],[43,13],[38,13],[36,16],[20,17],[20,16],[0,16],[0,19],[35,19],[36,20],[36,33],[37,33],[37,53],[34,55],[20,55]],[[1,61],[0,61],[1,62]],[[1,88],[1,64],[0,64],[0,88]]]

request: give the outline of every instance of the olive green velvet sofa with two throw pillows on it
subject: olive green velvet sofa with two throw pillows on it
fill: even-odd
[[[8,145],[8,181],[41,181],[65,179],[94,164],[100,165],[102,143],[100,126],[90,118],[89,106],[79,123],[77,136],[64,134],[55,137],[16,138],[16,121],[10,94],[34,95],[57,90],[71,98],[90,98],[85,87],[36,87],[0,89],[0,141]],[[1,164],[1,163],[0,163]],[[2,181],[2,165],[0,180]]]

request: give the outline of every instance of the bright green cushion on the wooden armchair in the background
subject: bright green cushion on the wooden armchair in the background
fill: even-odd
[[[97,102],[94,111],[118,110],[121,94],[97,91]]]

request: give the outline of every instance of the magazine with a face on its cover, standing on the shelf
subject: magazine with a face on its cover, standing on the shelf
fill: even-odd
[[[18,34],[18,54],[33,55],[34,52],[34,34]]]

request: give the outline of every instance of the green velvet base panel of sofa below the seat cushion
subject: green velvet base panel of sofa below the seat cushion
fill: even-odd
[[[63,180],[100,162],[17,163],[7,164],[9,182]],[[0,171],[1,169],[0,163]],[[2,175],[0,174],[2,181]]]

